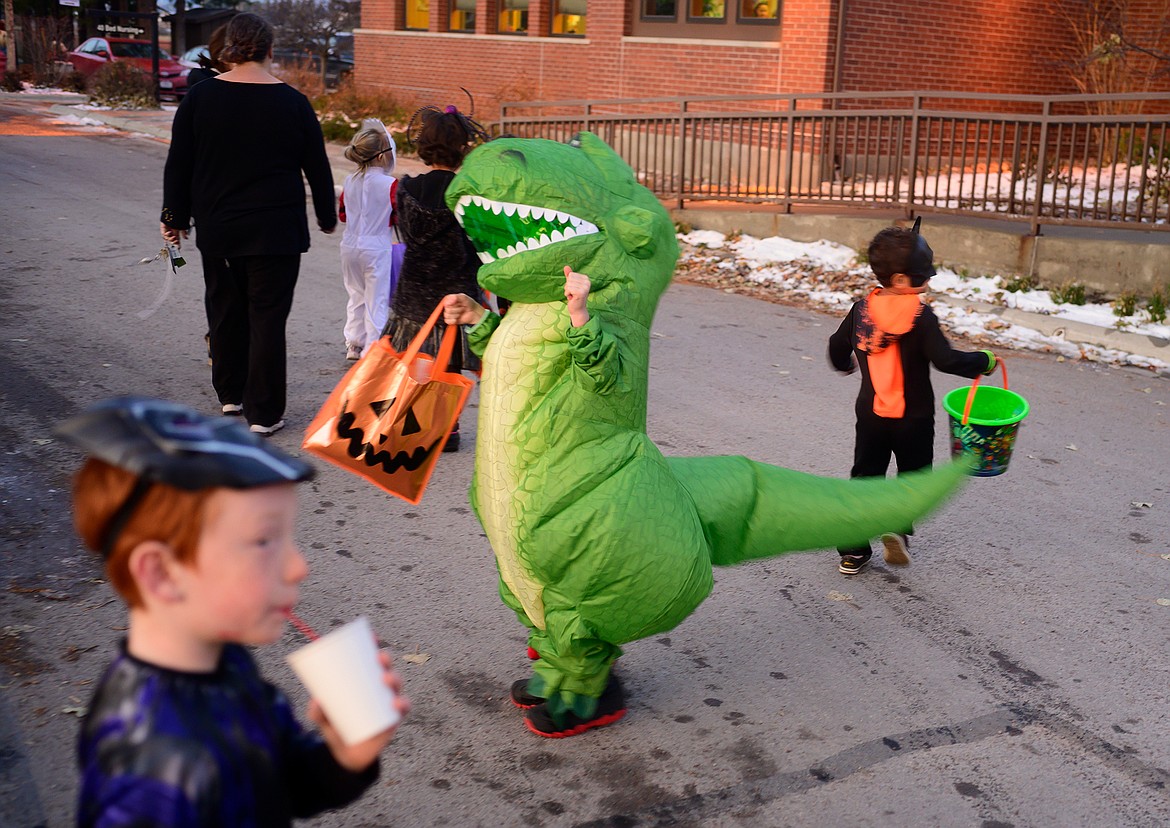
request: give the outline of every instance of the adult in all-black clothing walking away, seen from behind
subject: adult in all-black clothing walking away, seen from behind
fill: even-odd
[[[309,249],[304,178],[317,226],[332,233],[333,177],[308,98],[270,71],[271,27],[239,14],[226,40],[233,68],[192,87],[174,113],[161,232],[179,244],[194,220],[212,385],[225,414],[270,435],[284,427],[284,326]]]

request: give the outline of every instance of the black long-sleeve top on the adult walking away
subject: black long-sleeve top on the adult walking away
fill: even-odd
[[[317,225],[331,230],[333,175],[309,99],[284,83],[211,78],[174,113],[161,221],[194,220],[197,247],[215,256],[304,253],[304,179]]]

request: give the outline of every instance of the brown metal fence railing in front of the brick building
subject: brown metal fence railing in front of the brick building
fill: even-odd
[[[875,92],[509,103],[498,131],[589,130],[695,201],[900,208],[1170,230],[1170,94]]]

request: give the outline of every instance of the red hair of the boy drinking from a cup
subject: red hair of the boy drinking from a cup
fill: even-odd
[[[125,469],[95,457],[87,460],[74,477],[74,525],[95,552],[102,551],[110,520],[137,482],[138,478]],[[135,546],[158,540],[174,550],[180,563],[194,565],[207,498],[214,491],[184,491],[163,483],[146,491],[105,559],[105,575],[128,606],[142,606],[142,594],[130,574],[130,553]]]

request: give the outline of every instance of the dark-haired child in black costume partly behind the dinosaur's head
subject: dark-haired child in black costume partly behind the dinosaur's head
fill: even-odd
[[[488,136],[479,124],[454,106],[445,110],[426,106],[412,118],[408,129],[419,158],[431,167],[422,175],[411,175],[398,185],[398,233],[406,243],[406,254],[398,276],[398,287],[390,305],[384,336],[390,336],[397,351],[405,351],[447,294],[480,297],[476,275],[480,257],[470,240],[447,207],[443,196],[455,178],[455,171],[472,147]],[[439,317],[434,331],[422,345],[422,352],[435,354],[443,331]],[[459,346],[448,370],[479,371],[480,360],[467,347],[462,329]],[[443,451],[459,449],[459,423]]]

